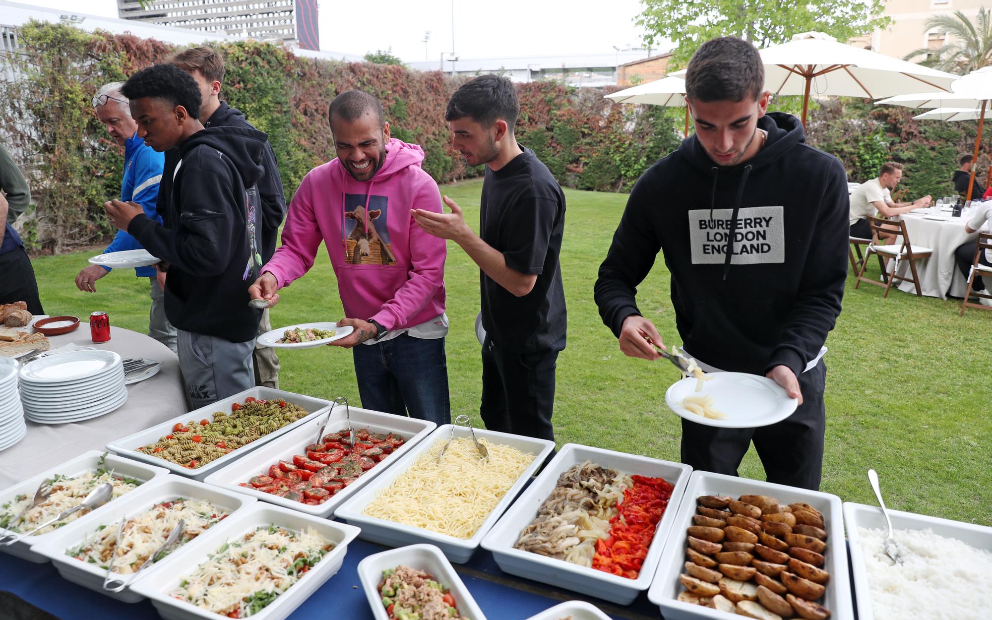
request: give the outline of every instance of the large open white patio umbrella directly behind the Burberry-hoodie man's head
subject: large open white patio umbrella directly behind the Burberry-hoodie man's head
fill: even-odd
[[[803,126],[809,94],[867,97],[949,90],[957,75],[839,43],[817,32],[759,50],[765,63],[765,88],[777,95],[803,95]],[[684,70],[675,75],[684,74]]]

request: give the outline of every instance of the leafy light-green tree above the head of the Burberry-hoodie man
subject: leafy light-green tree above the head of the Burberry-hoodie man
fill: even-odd
[[[673,41],[670,66],[683,65],[696,48],[714,37],[740,37],[759,48],[785,43],[811,30],[838,41],[885,28],[885,0],[641,0],[637,25],[645,43]]]

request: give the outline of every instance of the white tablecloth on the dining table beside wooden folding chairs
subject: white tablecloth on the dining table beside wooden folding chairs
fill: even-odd
[[[910,234],[913,248],[919,246],[933,250],[930,258],[917,261],[923,294],[941,300],[947,299],[948,294],[957,298],[964,297],[968,283],[954,264],[954,250],[961,244],[973,241],[978,233],[968,234],[964,231],[966,220],[963,217],[952,217],[945,221],[926,219],[922,213],[907,213],[901,217],[906,222],[906,231]],[[899,243],[902,243],[902,239]],[[899,275],[913,277],[908,261],[899,262]],[[912,282],[900,282],[899,290],[914,295],[917,293]]]

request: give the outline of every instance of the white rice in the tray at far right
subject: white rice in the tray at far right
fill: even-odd
[[[887,530],[858,528],[875,620],[986,620],[992,553],[927,530],[896,530],[903,563],[893,564]]]

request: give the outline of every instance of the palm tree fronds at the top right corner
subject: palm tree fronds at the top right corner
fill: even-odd
[[[921,64],[959,75],[992,64],[992,11],[985,7],[978,9],[974,23],[964,13],[954,11],[953,15],[931,17],[926,28],[946,33],[944,44],[932,50],[914,50],[904,60],[927,56]]]

